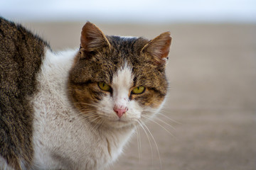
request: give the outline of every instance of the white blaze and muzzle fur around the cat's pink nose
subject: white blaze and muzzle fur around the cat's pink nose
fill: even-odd
[[[107,120],[119,120],[119,122],[114,123],[114,126],[119,128],[122,125],[134,124],[141,118],[142,108],[136,101],[129,101],[129,94],[133,85],[132,69],[125,64],[113,76],[112,84],[110,85],[113,89],[113,95],[110,96],[109,94],[100,101],[99,106],[101,108],[98,109],[98,114]],[[114,106],[128,108],[128,111],[119,118],[113,110]],[[112,122],[110,123],[112,124]]]

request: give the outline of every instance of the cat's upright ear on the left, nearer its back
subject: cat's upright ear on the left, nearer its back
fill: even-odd
[[[83,58],[88,52],[95,52],[104,47],[110,48],[110,42],[97,26],[87,22],[82,27],[80,46],[80,54]]]

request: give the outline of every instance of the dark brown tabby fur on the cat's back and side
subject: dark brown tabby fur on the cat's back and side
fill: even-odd
[[[5,160],[20,169],[33,157],[28,98],[36,92],[46,46],[26,28],[0,17],[0,166]]]

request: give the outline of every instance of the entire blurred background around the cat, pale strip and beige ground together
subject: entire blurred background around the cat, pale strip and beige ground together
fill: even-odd
[[[170,91],[147,124],[156,142],[140,128],[110,169],[256,169],[255,0],[0,0],[0,16],[53,50],[79,47],[86,21],[107,35],[170,30]]]

